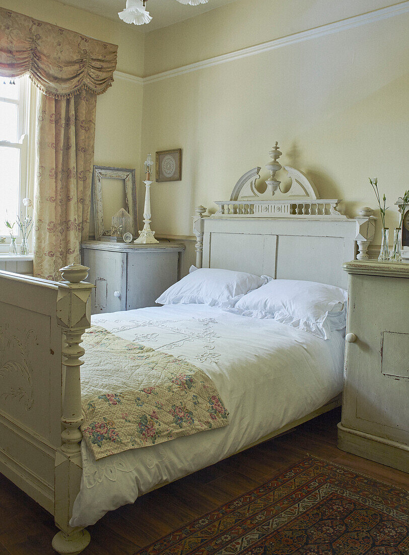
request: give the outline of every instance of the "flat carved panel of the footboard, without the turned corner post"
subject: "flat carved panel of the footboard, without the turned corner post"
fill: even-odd
[[[52,282],[0,273],[0,471],[54,512],[62,329]]]

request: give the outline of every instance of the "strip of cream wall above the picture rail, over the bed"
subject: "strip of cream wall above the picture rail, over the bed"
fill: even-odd
[[[385,0],[236,0],[201,16],[147,33],[144,75],[272,41],[387,5]],[[194,8],[190,9],[194,16]]]

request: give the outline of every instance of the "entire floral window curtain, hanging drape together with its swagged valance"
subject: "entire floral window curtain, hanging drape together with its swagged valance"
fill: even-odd
[[[96,95],[113,82],[117,46],[0,8],[0,75],[25,73],[37,105],[34,275],[59,280],[88,239]]]

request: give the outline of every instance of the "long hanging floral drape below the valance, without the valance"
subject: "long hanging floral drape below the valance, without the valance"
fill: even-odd
[[[88,239],[94,163],[96,95],[39,95],[34,200],[34,276],[60,280],[59,269],[80,264]]]

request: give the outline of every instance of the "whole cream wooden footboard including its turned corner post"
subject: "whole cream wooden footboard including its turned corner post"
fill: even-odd
[[[0,472],[54,515],[65,539],[80,543],[84,532],[79,537],[68,521],[82,468],[87,270],[67,266],[59,283],[0,271]]]

